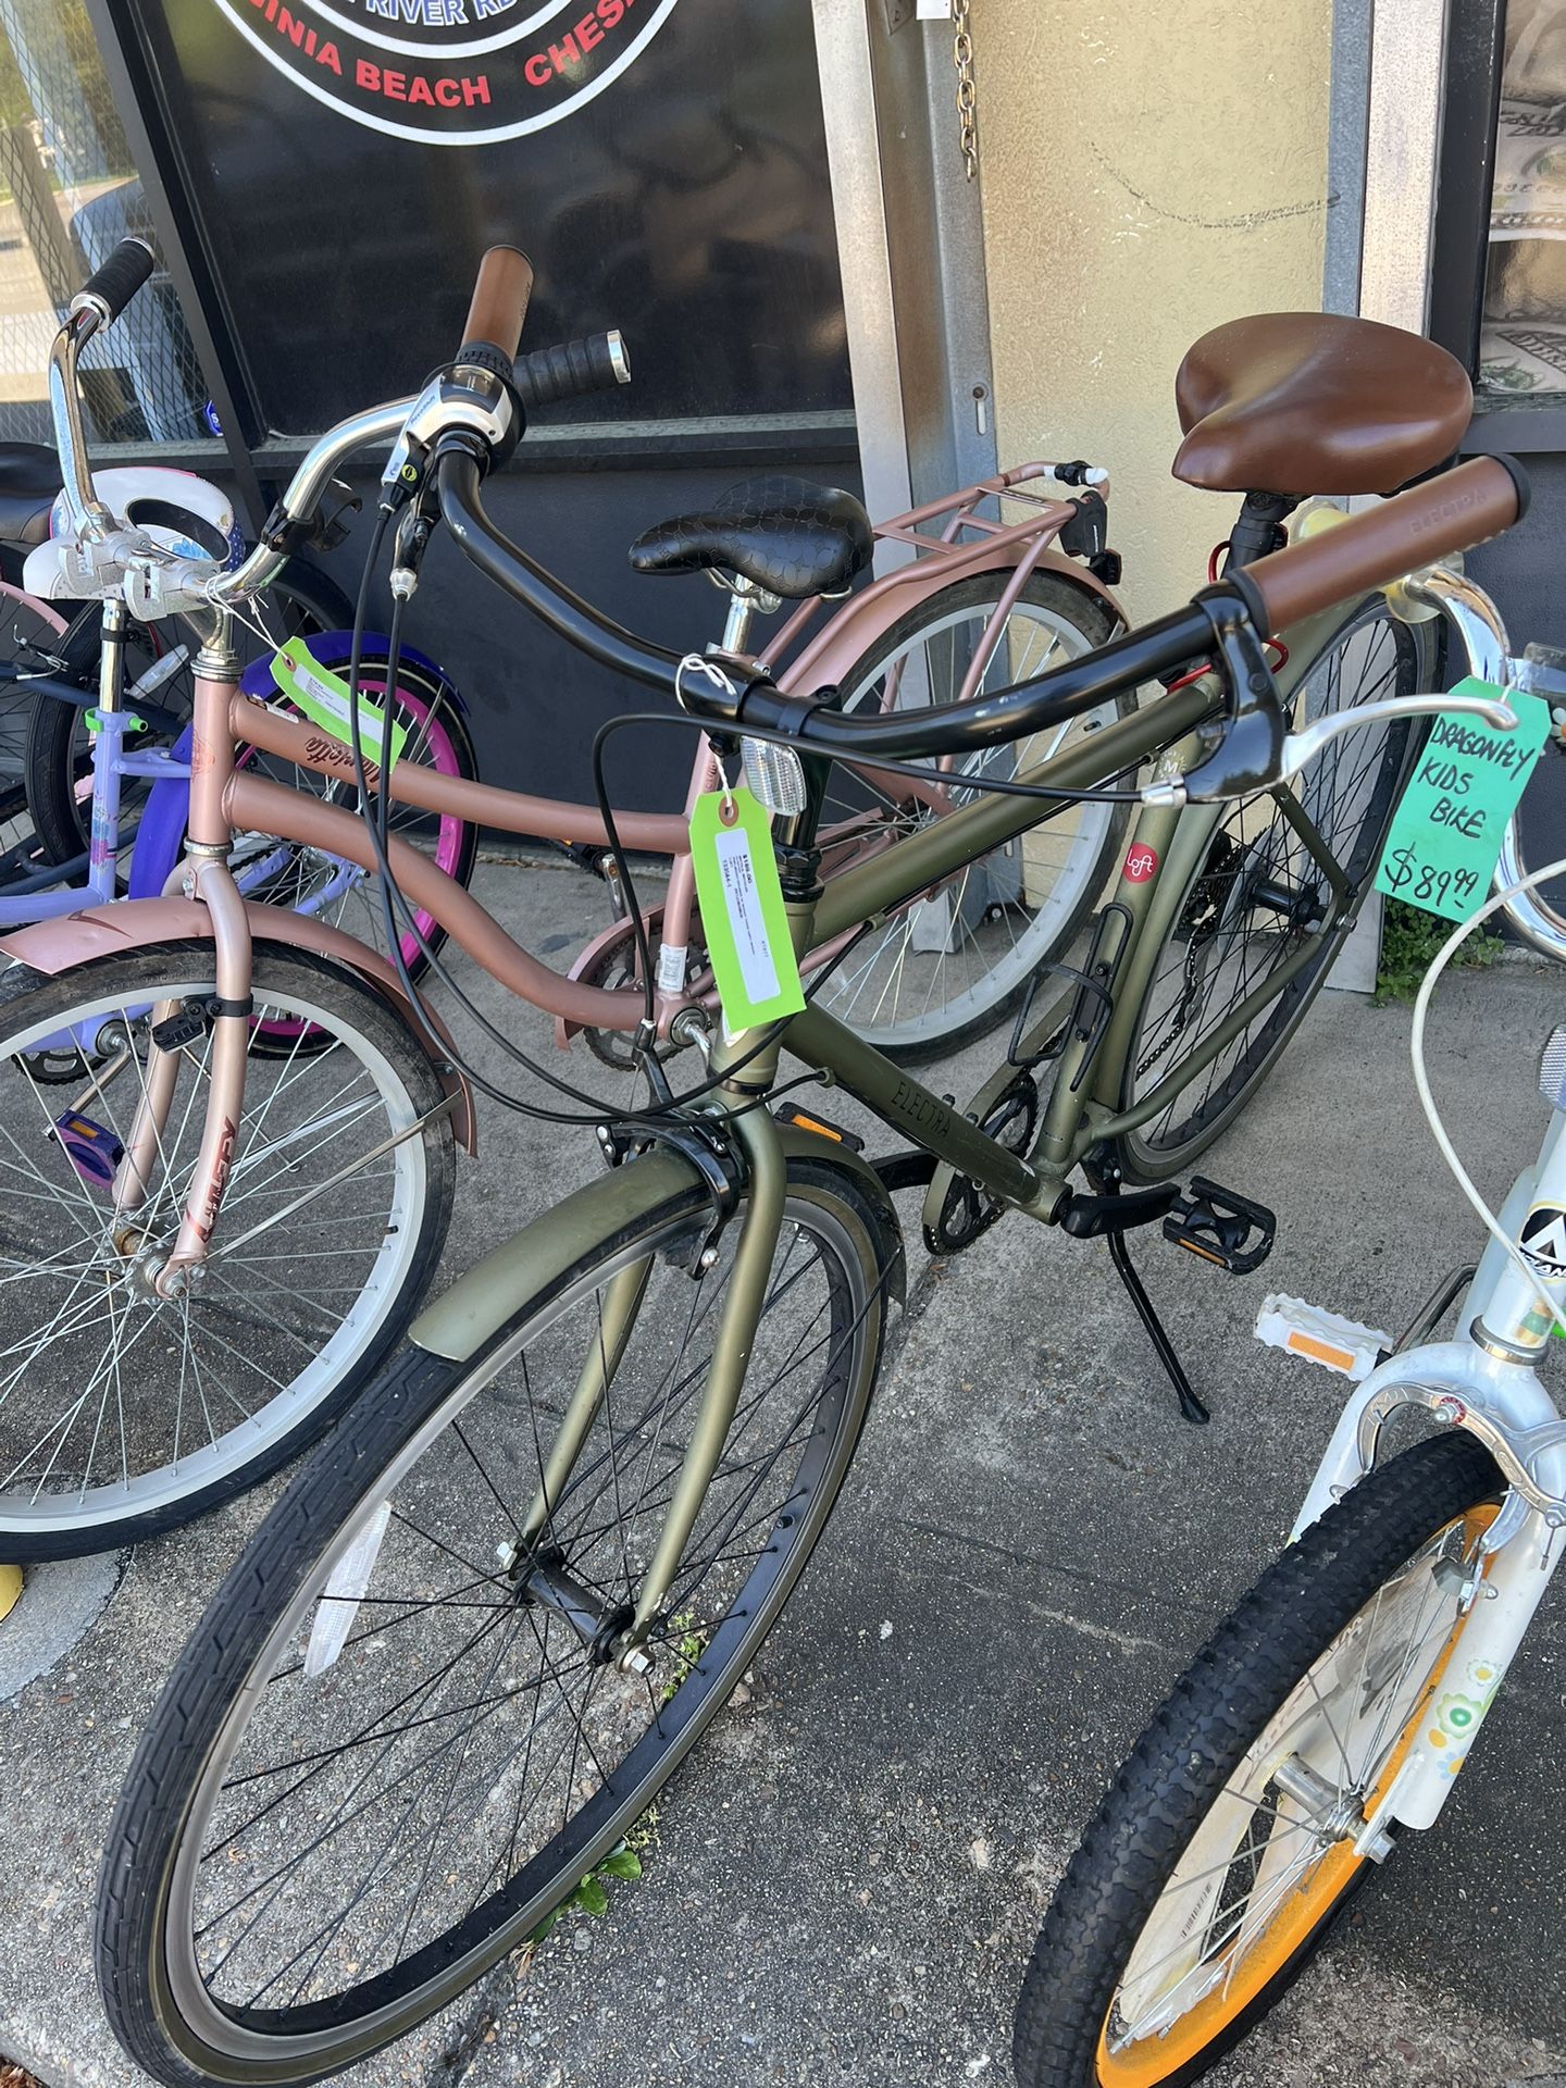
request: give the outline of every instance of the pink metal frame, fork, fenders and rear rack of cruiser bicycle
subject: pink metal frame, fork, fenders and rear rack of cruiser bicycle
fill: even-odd
[[[990,647],[994,647],[1004,624],[1004,606],[1015,601],[1027,572],[1040,564],[1059,564],[1077,585],[1105,595],[1102,585],[1086,568],[1052,549],[1059,530],[1077,514],[1073,503],[1025,497],[1034,514],[1021,524],[996,524],[975,516],[981,501],[998,499],[1002,493],[1009,495],[1013,482],[1044,476],[1044,466],[1025,466],[1002,478],[969,487],[946,503],[915,509],[910,516],[900,516],[887,524],[889,530],[910,539],[919,535],[919,524],[931,514],[948,516],[944,537],[929,543],[927,555],[917,557],[910,566],[896,570],[885,580],[852,597],[831,624],[800,654],[789,670],[791,677],[802,677],[810,687],[818,687],[821,677],[846,672],[881,633],[896,624],[912,601],[948,587],[952,578],[969,572],[1004,570],[1009,574],[1006,589],[1002,589],[1002,606],[992,616],[994,637],[988,639]],[[963,530],[969,532],[967,539],[963,539]],[[1115,616],[1119,618],[1119,610],[1115,610]],[[796,624],[802,618],[804,610],[796,616]],[[104,674],[109,674],[106,666]],[[278,754],[336,781],[353,781],[353,756],[345,745],[309,725],[248,699],[240,691],[232,624],[228,612],[215,612],[211,637],[194,660],[190,846],[186,860],[171,871],[165,892],[159,898],[127,900],[90,910],[77,910],[77,900],[71,900],[67,923],[44,921],[0,942],[0,952],[44,973],[63,971],[106,950],[123,952],[125,948],[182,940],[192,933],[209,933],[215,944],[217,1000],[221,1002],[221,1011],[213,1019],[211,1105],[177,1240],[157,1278],[159,1290],[165,1297],[180,1295],[207,1259],[207,1247],[221,1209],[236,1125],[242,1117],[253,942],[278,935],[282,940],[299,940],[299,927],[284,925],[290,917],[280,917],[278,910],[267,906],[246,904],[230,864],[234,835],[244,831],[278,835],[284,841],[301,841],[315,848],[338,864],[351,864],[365,873],[376,869],[374,846],[363,821],[355,812],[251,775],[238,760],[242,745]],[[123,762],[125,756],[119,754],[119,760]],[[716,766],[704,741],[693,770],[691,800],[712,781],[716,781]],[[449,812],[474,825],[499,827],[507,833],[547,833],[599,846],[608,841],[597,808],[566,806],[464,777],[445,777],[416,762],[399,762],[395,766],[388,793],[401,804],[426,812]],[[946,791],[940,785],[923,785],[919,796],[923,802],[946,802]],[[1027,800],[1021,800],[1021,804],[1025,816],[1017,818],[1011,829],[1017,833],[1034,825],[1031,806]],[[954,825],[954,821],[938,821],[935,829],[948,825]],[[683,946],[689,938],[693,908],[687,816],[626,814],[618,827],[631,848],[674,858],[670,894],[664,904],[664,950],[679,952],[683,973]],[[960,829],[960,833],[967,831]],[[979,844],[981,850],[988,846],[992,844]],[[940,883],[942,877],[967,862],[973,852],[963,839],[948,852],[944,867],[927,862],[921,852],[917,858],[919,875],[898,896],[900,902],[921,896],[931,883]],[[889,856],[894,852],[881,850],[881,854]],[[104,860],[113,864],[109,833],[104,833]],[[871,852],[864,867],[875,860],[877,856]],[[390,839],[390,864],[409,902],[434,919],[459,948],[509,992],[570,1023],[635,1029],[643,1011],[643,996],[639,992],[595,988],[549,971],[507,935],[472,894],[399,837]],[[324,923],[317,923],[317,946],[324,950],[330,948],[330,954],[336,956],[353,952],[351,963],[355,969],[382,992],[395,986],[395,973],[388,965],[376,958],[365,946],[338,935]],[[816,950],[814,960],[821,963],[825,954],[829,952]],[[699,981],[695,992],[689,986],[677,992],[672,983],[660,990],[660,1027],[666,1029],[683,1006],[699,1004]],[[171,1013],[171,1009],[163,1006],[152,1011],[155,1021],[163,1021]],[[171,1107],[175,1071],[173,1054],[152,1052],[146,1100],[138,1111],[125,1157],[115,1171],[113,1199],[119,1211],[129,1213],[138,1209],[146,1194],[144,1184]]]

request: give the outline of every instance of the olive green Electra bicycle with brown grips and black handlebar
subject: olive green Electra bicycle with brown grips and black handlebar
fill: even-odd
[[[516,326],[493,326],[509,367]],[[1439,355],[1391,338],[1420,367]],[[1338,428],[1353,420],[1351,401],[1336,411]],[[1361,447],[1370,434],[1361,413]],[[1426,420],[1370,447],[1399,484],[1449,434]],[[1328,451],[1307,461],[1338,491]],[[482,512],[484,441],[457,432],[436,457],[457,541],[547,610],[551,583]],[[1265,553],[1276,516],[1257,505]],[[1451,576],[1403,576],[1518,512],[1505,464],[1462,466],[1232,564],[1096,654],[940,712],[846,716],[831,693],[785,695],[735,660],[683,664],[685,712],[725,754],[750,741],[796,950],[850,950],[894,904],[1084,796],[1140,802],[1119,883],[1088,956],[1044,975],[969,1111],[818,1002],[733,1038],[693,1013],[697,1090],[606,1119],[610,1171],[422,1315],[246,1547],[138,1752],[98,1965],[140,2065],[171,2088],[336,2071],[626,1865],[626,1831],[745,1672],[848,1472],[904,1284],[894,1186],[927,1180],[944,1251],[1013,1209],[1121,1249],[1130,1228],[1161,1226],[1226,1265],[1265,1251],[1259,1207],[1176,1176],[1340,948],[1416,720],[1447,706],[1510,718],[1418,693],[1422,618],[1482,622],[1482,603]],[[816,756],[1025,750],[1155,677],[1171,683],[1157,702],[1009,766],[1004,789],[821,887]],[[645,679],[666,687],[668,662],[649,656]],[[1019,796],[1015,775],[1061,796]],[[779,1105],[783,1048],[912,1150],[873,1165],[814,1109]],[[649,1077],[664,1077],[651,1061]]]

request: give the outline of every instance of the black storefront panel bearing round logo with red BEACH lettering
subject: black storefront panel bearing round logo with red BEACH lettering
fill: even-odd
[[[812,0],[113,6],[267,434],[418,390],[495,242],[535,265],[524,347],[631,347],[547,422],[848,420]]]

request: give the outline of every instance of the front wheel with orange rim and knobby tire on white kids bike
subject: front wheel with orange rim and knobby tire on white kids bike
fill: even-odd
[[[1196,1656],[1044,1919],[1019,2088],[1184,2088],[1292,1986],[1363,1881],[1355,1835],[1432,1706],[1457,1714],[1455,1773],[1464,1698],[1495,1687],[1451,1672],[1451,1654],[1499,1491],[1472,1437],[1418,1443],[1290,1545]]]

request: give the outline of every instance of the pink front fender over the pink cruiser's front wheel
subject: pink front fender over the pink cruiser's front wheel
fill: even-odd
[[[380,994],[413,1036],[424,1042],[403,981],[365,944],[355,942],[353,935],[345,935],[340,927],[313,921],[309,915],[286,912],[282,906],[246,904],[244,910],[251,917],[251,935],[257,944],[280,942],[294,950],[309,950],[311,956],[345,965]],[[119,956],[125,950],[144,950],[155,942],[211,942],[211,915],[196,900],[119,900],[113,906],[90,906],[86,912],[67,915],[63,921],[40,921],[35,927],[17,929],[15,935],[0,938],[0,954],[52,979],[63,971],[73,971],[77,965],[90,963],[94,956]],[[432,1017],[432,1021],[441,1036],[445,1036],[445,1023],[438,1017]],[[451,1111],[451,1125],[468,1153],[476,1153],[478,1125],[474,1119],[472,1088],[455,1067],[436,1063],[436,1073],[447,1094],[457,1096],[457,1107]]]

